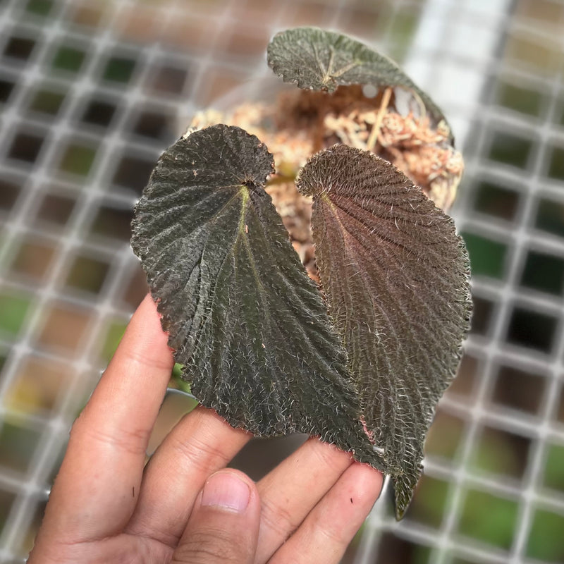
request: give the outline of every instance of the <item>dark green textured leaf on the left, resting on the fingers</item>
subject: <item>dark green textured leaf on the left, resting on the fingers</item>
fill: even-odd
[[[373,458],[346,355],[263,185],[271,154],[226,125],[166,150],[132,246],[206,407],[257,435],[298,431]]]

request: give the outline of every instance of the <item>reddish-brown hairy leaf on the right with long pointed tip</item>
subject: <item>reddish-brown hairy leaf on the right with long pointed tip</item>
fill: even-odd
[[[397,168],[334,145],[298,178],[329,313],[402,517],[470,322],[469,263],[452,219]]]

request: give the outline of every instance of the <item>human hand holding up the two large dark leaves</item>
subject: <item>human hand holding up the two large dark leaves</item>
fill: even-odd
[[[29,564],[338,563],[381,474],[309,439],[255,484],[251,435],[197,407],[144,468],[173,355],[147,296],[71,430]]]

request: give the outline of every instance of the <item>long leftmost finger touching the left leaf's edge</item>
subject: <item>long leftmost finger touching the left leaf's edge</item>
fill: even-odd
[[[73,425],[47,508],[44,528],[51,536],[88,541],[123,528],[137,503],[147,441],[172,367],[147,296]]]

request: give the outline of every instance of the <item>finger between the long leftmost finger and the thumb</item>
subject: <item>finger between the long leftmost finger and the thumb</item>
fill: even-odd
[[[185,415],[149,460],[126,531],[176,547],[207,477],[226,467],[251,436],[204,407]]]

